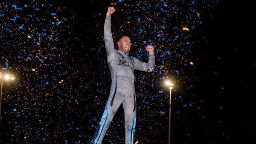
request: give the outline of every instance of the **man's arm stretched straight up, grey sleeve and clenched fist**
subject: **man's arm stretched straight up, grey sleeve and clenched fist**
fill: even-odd
[[[107,50],[107,54],[111,55],[115,52],[112,32],[111,32],[111,14],[115,12],[114,7],[108,7],[108,12],[106,14],[105,24],[104,24],[104,40],[105,40],[105,47]]]

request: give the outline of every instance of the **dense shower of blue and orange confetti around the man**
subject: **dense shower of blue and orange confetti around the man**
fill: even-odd
[[[111,88],[102,33],[105,10],[115,6],[117,12],[111,16],[114,39],[127,33],[132,40],[131,56],[146,62],[145,45],[153,45],[156,56],[153,73],[135,71],[135,144],[167,143],[169,89],[163,80],[171,78],[177,85],[172,89],[176,105],[172,118],[180,124],[186,113],[198,111],[198,103],[203,102],[187,94],[197,88],[192,73],[198,61],[190,56],[200,41],[199,31],[205,28],[203,17],[212,16],[217,3],[1,2],[1,71],[12,72],[15,78],[12,84],[4,83],[1,132],[10,143],[90,143]],[[90,14],[79,13],[89,9],[87,6],[93,9]],[[124,114],[119,112],[105,143],[124,143],[122,118]],[[4,121],[8,124],[2,124]],[[189,138],[184,141],[191,142]]]

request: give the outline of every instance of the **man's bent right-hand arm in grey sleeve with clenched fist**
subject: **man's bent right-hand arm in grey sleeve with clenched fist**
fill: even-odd
[[[144,63],[140,60],[135,61],[135,69],[145,72],[153,72],[155,66],[155,56],[154,56],[154,47],[147,46],[146,50],[149,53],[148,63]]]

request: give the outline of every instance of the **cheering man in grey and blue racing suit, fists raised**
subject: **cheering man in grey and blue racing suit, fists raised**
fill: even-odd
[[[126,35],[118,39],[118,50],[114,49],[111,33],[111,14],[114,12],[114,7],[108,7],[104,24],[104,40],[108,54],[107,62],[112,78],[111,91],[105,111],[103,112],[101,121],[99,122],[99,126],[91,142],[92,144],[102,143],[102,139],[121,103],[125,111],[125,144],[134,144],[136,122],[134,69],[145,72],[154,71],[155,57],[153,46],[146,47],[146,51],[149,53],[148,63],[143,63],[136,58],[128,56],[131,49],[131,40]]]

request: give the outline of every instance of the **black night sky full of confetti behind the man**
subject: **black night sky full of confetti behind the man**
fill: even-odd
[[[111,88],[108,6],[114,43],[131,35],[145,62],[155,50],[154,72],[134,72],[136,144],[168,143],[168,79],[172,144],[253,143],[254,8],[233,0],[1,1],[0,69],[15,77],[3,80],[1,143],[90,143]],[[124,143],[121,106],[102,144]]]

